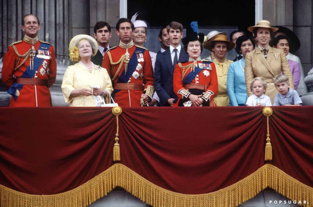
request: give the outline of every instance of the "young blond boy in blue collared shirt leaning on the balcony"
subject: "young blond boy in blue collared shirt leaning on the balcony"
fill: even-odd
[[[284,74],[274,77],[275,88],[279,92],[274,99],[273,106],[301,106],[302,100],[296,90],[289,88],[289,78]]]

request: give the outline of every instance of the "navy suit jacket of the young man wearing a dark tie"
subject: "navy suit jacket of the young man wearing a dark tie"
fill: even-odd
[[[187,62],[188,60],[189,55],[185,53],[182,47],[179,52],[178,62]],[[169,106],[167,100],[177,97],[173,89],[173,73],[174,68],[170,49],[157,54],[154,68],[154,89],[160,98],[160,106]]]

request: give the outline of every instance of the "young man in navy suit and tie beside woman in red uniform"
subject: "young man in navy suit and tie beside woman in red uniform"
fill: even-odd
[[[172,106],[177,98],[173,89],[173,73],[176,63],[187,62],[189,55],[181,47],[182,24],[171,22],[167,26],[167,34],[170,39],[170,48],[156,55],[154,68],[154,87],[160,98],[160,106]],[[176,56],[176,57],[175,57]]]

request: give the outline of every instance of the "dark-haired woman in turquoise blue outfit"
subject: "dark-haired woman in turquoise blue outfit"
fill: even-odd
[[[242,58],[229,65],[227,73],[227,93],[229,106],[245,106],[248,99],[246,82],[244,78],[244,63],[246,53],[255,49],[254,39],[248,35],[240,36],[236,42],[236,52]]]

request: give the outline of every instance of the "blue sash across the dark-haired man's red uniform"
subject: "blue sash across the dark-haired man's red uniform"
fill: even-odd
[[[136,47],[136,46],[134,46],[134,47]],[[136,53],[138,51],[141,52],[142,55],[143,55],[146,50],[142,49],[142,48],[137,48],[136,47],[135,52],[131,55],[131,58],[130,58],[128,64],[127,64],[127,73],[126,74],[124,73],[124,70],[125,70],[125,68],[124,68],[124,70],[121,73],[121,76],[118,78],[116,83],[127,83],[128,82],[129,78],[132,76],[132,74],[136,70],[136,67],[137,67],[137,65],[139,63],[138,62],[138,58],[137,58],[137,54],[138,53]],[[112,93],[112,97],[114,98],[115,93],[117,93],[119,91],[120,90],[114,89],[113,93]]]

